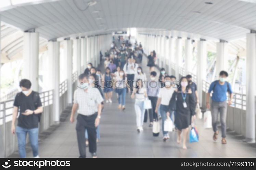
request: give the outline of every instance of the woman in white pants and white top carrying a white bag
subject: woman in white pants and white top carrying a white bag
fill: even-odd
[[[136,87],[131,94],[131,98],[135,97],[135,112],[136,112],[136,124],[137,131],[141,132],[143,130],[143,121],[144,121],[144,101],[147,96],[146,88],[143,87],[142,79],[136,80]]]

